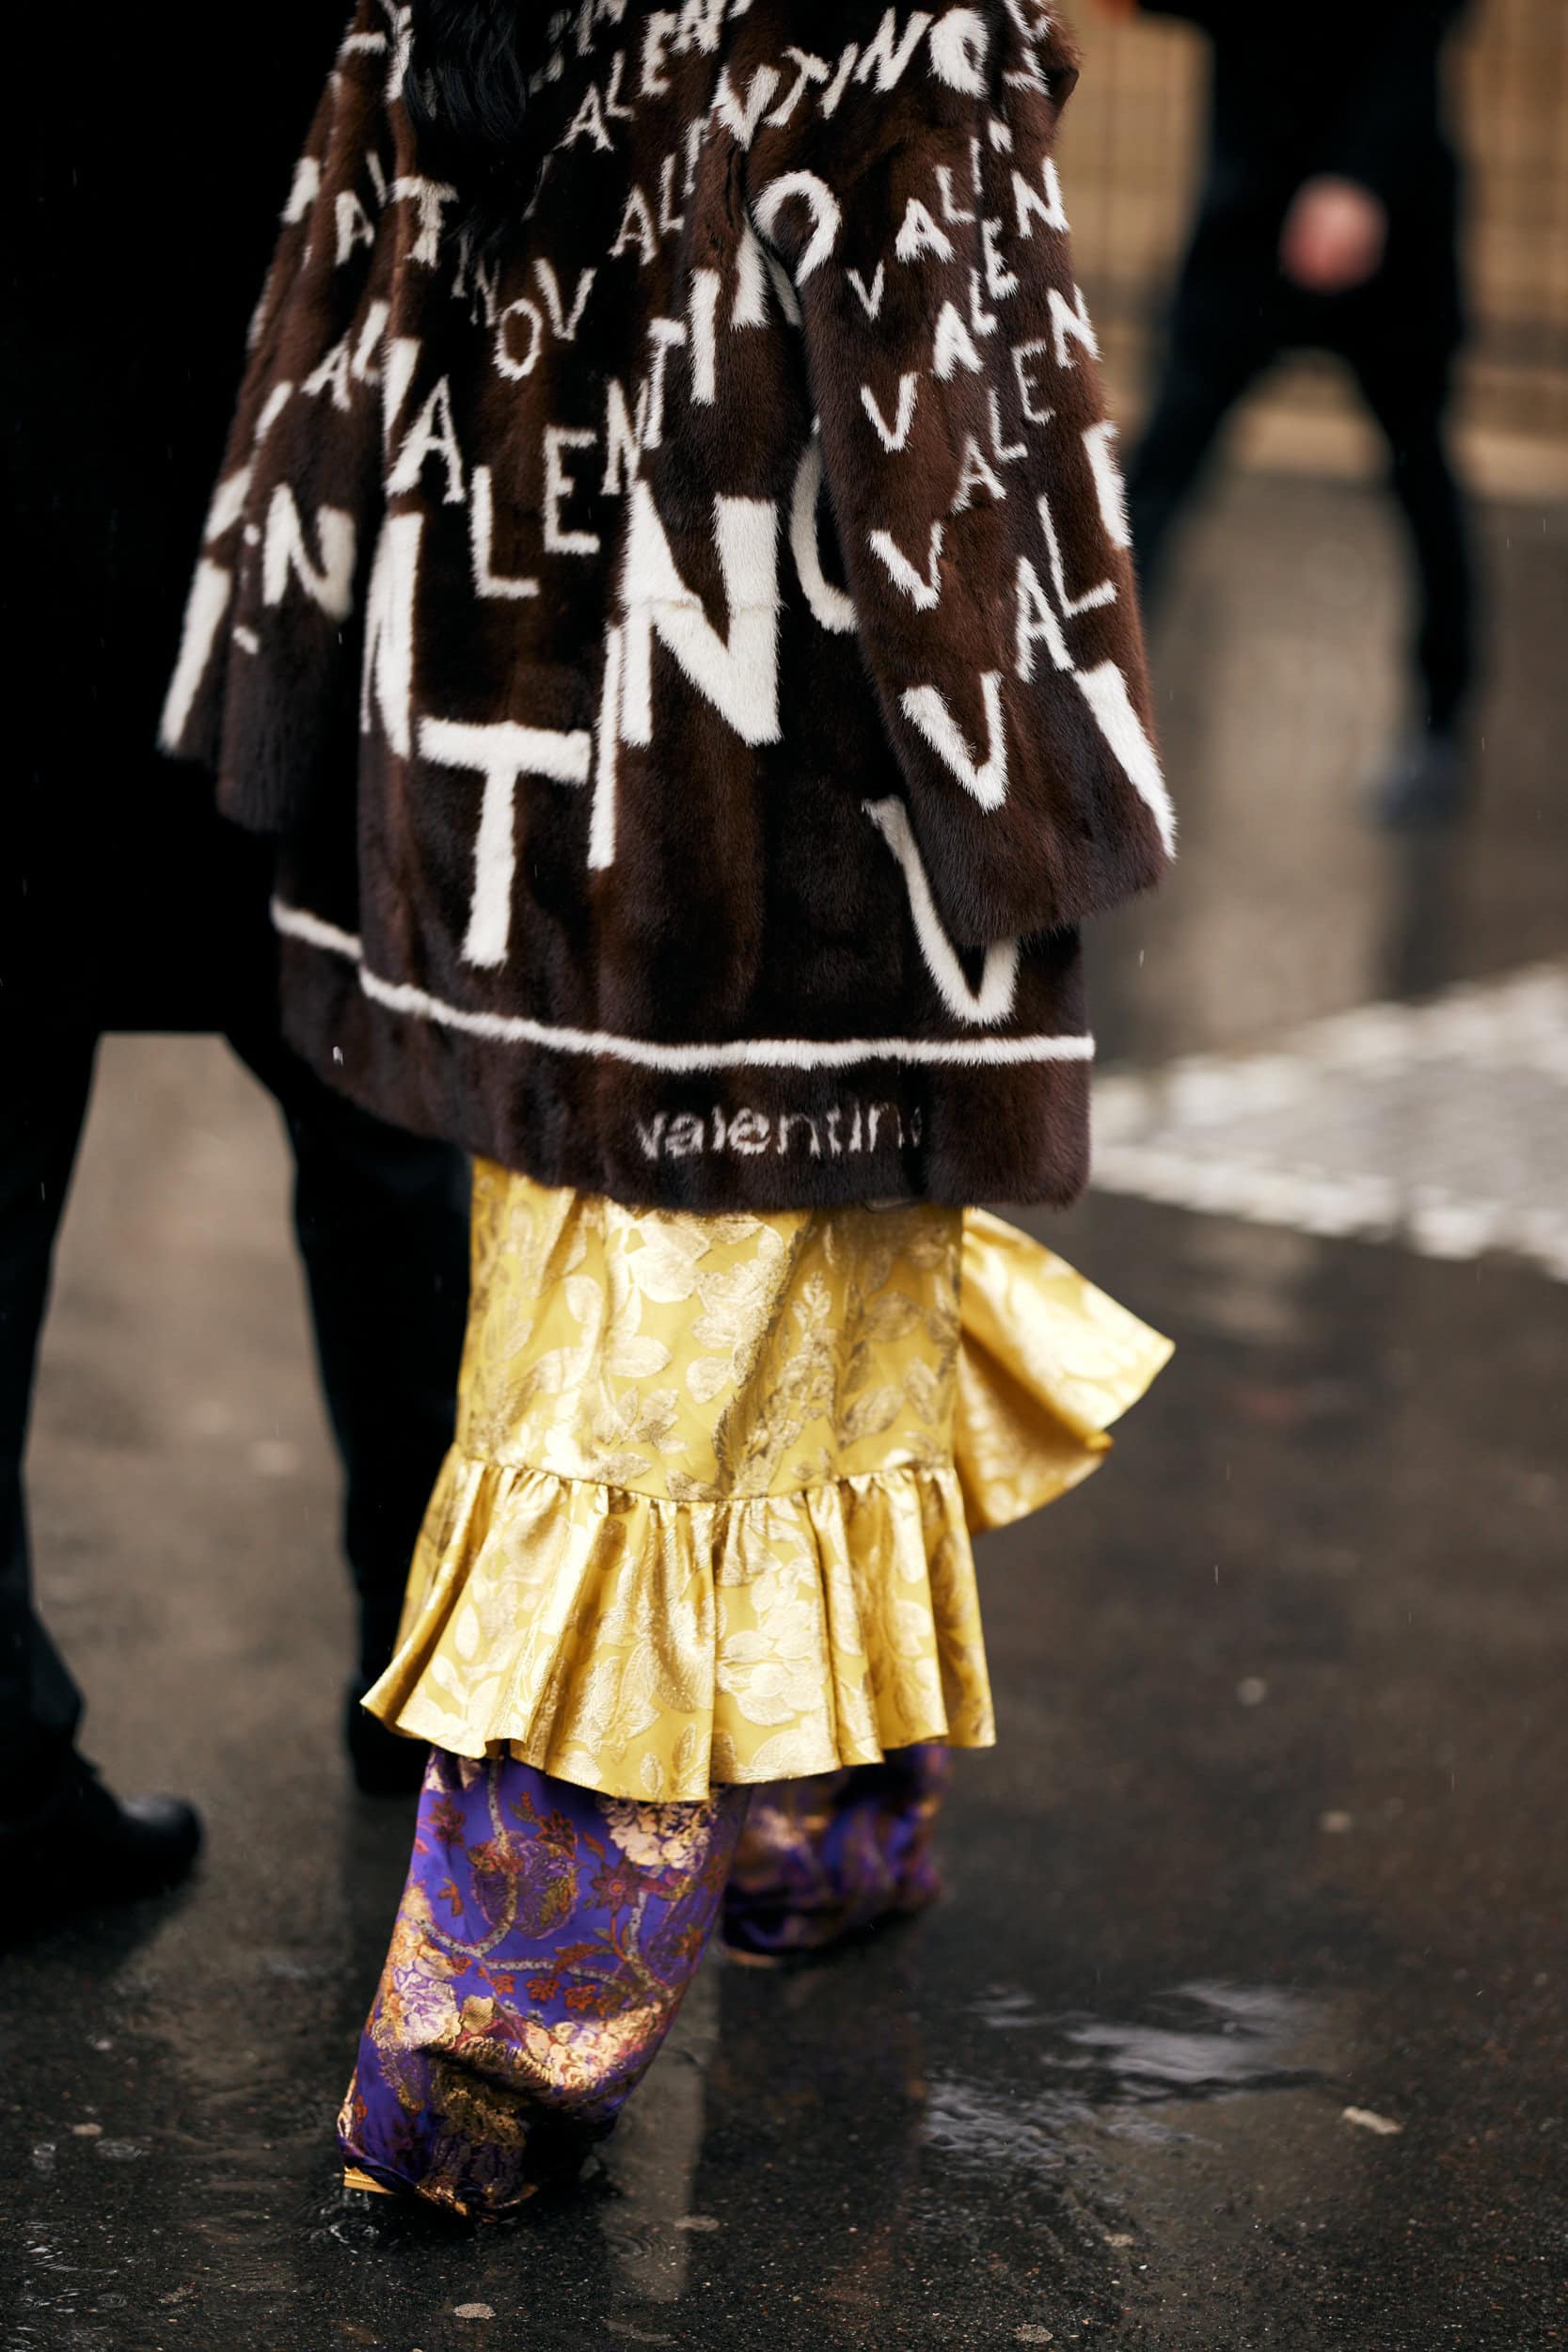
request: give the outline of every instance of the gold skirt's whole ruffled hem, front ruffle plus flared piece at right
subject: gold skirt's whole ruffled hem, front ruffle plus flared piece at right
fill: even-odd
[[[661,1804],[992,1745],[971,1531],[1088,1477],[1171,1343],[980,1211],[961,1324],[950,1463],[670,1501],[454,1451],[367,1705]]]

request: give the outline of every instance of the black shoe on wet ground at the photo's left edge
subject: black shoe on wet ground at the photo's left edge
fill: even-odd
[[[0,1877],[28,1907],[92,1910],[167,1893],[190,1877],[202,1818],[179,1797],[120,1802],[96,1766],[71,1757],[59,1795],[26,1828],[0,1832]]]

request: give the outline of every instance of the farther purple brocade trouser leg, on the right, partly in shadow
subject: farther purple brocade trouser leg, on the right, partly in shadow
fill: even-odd
[[[724,1889],[724,1943],[743,1959],[804,1959],[907,1919],[940,1896],[931,1853],[952,1783],[947,1748],[757,1790]]]

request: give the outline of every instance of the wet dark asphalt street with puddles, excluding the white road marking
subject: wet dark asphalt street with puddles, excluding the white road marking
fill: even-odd
[[[1187,856],[1100,950],[1138,1073],[1295,1037],[1291,1084],[1314,1021],[1472,983],[1399,1120],[1335,1143],[1415,1240],[1314,1230],[1284,1141],[1248,1216],[1145,1155],[1039,1228],[1180,1355],[1103,1477],[985,1545],[1001,1748],[950,1903],[712,1966],[602,2176],[491,2234],[334,2201],[409,1820],[336,1750],[284,1160],[219,1047],[108,1049],[38,1552],[92,1752],[190,1792],[209,1856],[0,1962],[0,2352],[1568,2343],[1568,1279],[1537,1211],[1535,1263],[1493,1247],[1512,1185],[1561,1202],[1568,1049],[1486,1051],[1486,1174],[1467,1091],[1488,988],[1568,953],[1568,541],[1507,508],[1488,541],[1483,804],[1392,847],[1356,811],[1382,520],[1225,494],[1161,659]]]

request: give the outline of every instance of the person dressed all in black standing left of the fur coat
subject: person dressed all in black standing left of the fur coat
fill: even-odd
[[[103,1030],[219,1030],[282,1110],[348,1475],[362,1625],[348,1740],[362,1788],[418,1780],[416,1750],[362,1715],[357,1693],[390,1656],[451,1437],[463,1167],[329,1094],[289,1054],[268,854],[219,823],[202,776],[153,750],[247,308],[336,33],[331,9],[296,0],[268,12],[266,40],[195,0],[92,26],[24,9],[7,33],[28,101],[0,263],[14,682],[0,854],[0,1875],[49,1912],[73,1891],[169,1884],[200,1837],[188,1806],[122,1806],[82,1762],[82,1700],[31,1595],[21,1458]],[[240,80],[244,103],[219,103]],[[125,1529],[125,1550],[139,1548],[150,1569],[155,1526]],[[223,1559],[212,1571],[221,1578]]]

